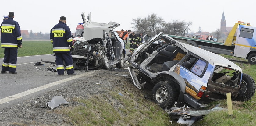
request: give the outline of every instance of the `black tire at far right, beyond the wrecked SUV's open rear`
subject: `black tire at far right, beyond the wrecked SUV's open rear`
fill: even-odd
[[[235,100],[239,100],[239,101],[246,101],[246,99],[250,100],[255,93],[255,82],[250,75],[243,73],[240,88],[242,89],[242,94],[239,94],[235,98]],[[245,96],[246,99],[244,99],[243,96]]]

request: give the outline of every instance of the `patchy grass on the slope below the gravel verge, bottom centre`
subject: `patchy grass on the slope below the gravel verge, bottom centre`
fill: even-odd
[[[66,114],[67,123],[77,125],[130,125],[130,126],[166,126],[168,115],[155,103],[141,99],[142,95],[119,95],[122,89],[116,88],[107,95],[98,95],[89,99],[74,98],[84,104],[76,107],[63,107],[54,112]],[[106,97],[108,96],[108,97]],[[118,107],[113,107],[118,106]]]

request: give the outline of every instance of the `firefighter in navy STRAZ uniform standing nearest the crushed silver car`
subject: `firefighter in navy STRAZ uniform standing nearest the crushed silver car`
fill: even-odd
[[[68,75],[76,75],[73,67],[73,60],[70,53],[70,48],[73,49],[73,39],[71,31],[66,24],[66,17],[61,16],[59,23],[56,24],[50,32],[50,40],[53,44],[53,53],[56,56],[57,72],[59,75],[64,75],[64,64]]]

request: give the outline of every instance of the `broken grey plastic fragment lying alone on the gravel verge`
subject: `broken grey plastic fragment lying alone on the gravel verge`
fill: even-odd
[[[46,103],[46,106],[48,108],[54,109],[59,105],[67,105],[67,104],[70,104],[70,103],[67,102],[62,96],[54,96],[52,97],[52,101]]]

